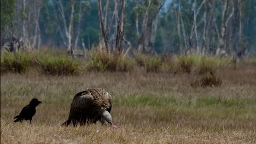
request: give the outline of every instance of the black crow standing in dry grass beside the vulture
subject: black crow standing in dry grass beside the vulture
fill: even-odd
[[[30,120],[30,124],[31,124],[32,117],[36,113],[36,106],[38,106],[40,103],[42,103],[42,102],[39,101],[38,99],[35,99],[35,98],[32,99],[30,101],[30,104],[28,104],[21,110],[20,115],[14,117],[14,119],[17,118],[17,119],[15,119],[14,122],[15,123],[22,122],[25,119],[25,120]]]

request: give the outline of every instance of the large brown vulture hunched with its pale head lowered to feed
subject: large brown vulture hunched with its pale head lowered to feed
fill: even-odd
[[[68,120],[62,125],[74,126],[77,123],[96,123],[113,124],[110,111],[112,108],[112,97],[102,88],[90,88],[86,91],[77,93],[71,103]]]

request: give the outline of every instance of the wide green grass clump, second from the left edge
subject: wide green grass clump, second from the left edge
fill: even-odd
[[[38,62],[45,74],[50,75],[75,75],[79,71],[79,65],[77,61],[74,61],[72,57],[65,55],[60,56],[40,56]]]

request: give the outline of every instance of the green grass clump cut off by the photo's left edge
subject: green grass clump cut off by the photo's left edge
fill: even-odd
[[[1,53],[1,72],[25,73],[32,65],[32,56],[24,52]]]

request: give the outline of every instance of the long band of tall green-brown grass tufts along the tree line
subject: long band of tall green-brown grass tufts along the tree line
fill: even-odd
[[[50,54],[49,54],[50,53]],[[73,59],[63,51],[42,49],[40,54],[33,53],[1,53],[1,72],[13,71],[24,73],[27,67],[39,66],[44,74],[74,75],[79,70],[96,71],[132,71],[135,67],[154,73],[187,73],[197,79],[191,86],[219,86],[222,79],[217,70],[228,65],[230,58],[188,56],[147,56],[135,55],[134,58],[124,55],[112,55],[101,47],[89,51],[89,57]],[[243,62],[255,63],[255,59]]]

